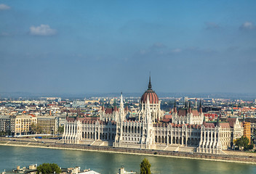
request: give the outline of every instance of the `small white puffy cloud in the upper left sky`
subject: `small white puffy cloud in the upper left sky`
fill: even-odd
[[[36,36],[52,36],[56,34],[56,30],[49,27],[49,25],[41,24],[38,27],[31,26],[30,28],[31,35]]]

